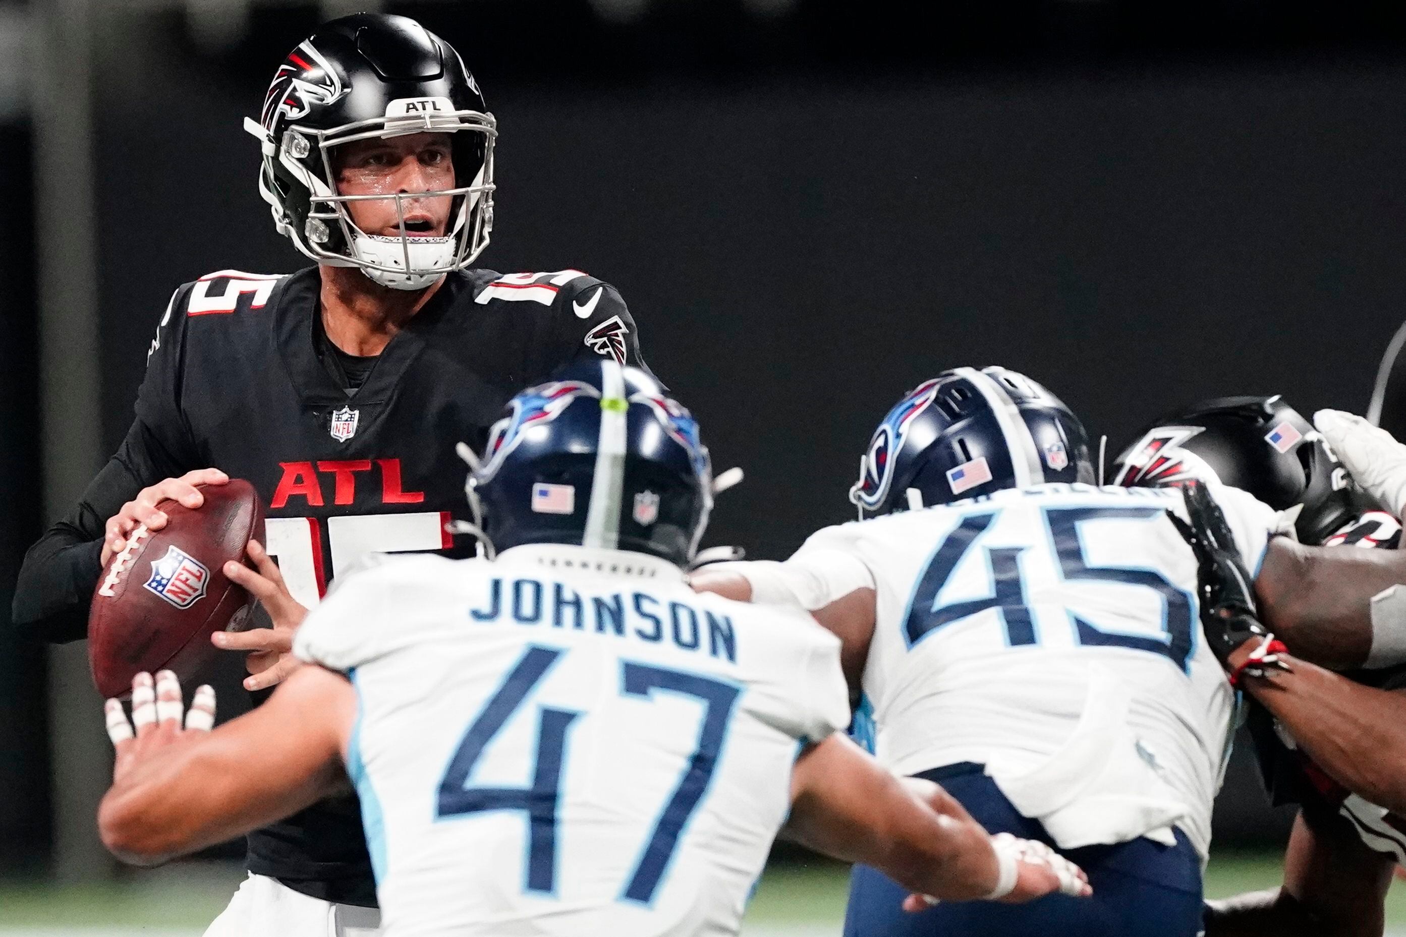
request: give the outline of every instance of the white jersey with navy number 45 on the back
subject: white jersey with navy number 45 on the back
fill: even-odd
[[[1209,487],[1257,573],[1275,513]],[[1168,507],[1185,517],[1180,490],[1012,489],[825,528],[782,568],[835,583],[810,590],[813,608],[876,589],[863,691],[891,770],[986,764],[1026,815],[1090,798],[1073,837],[1175,825],[1205,857],[1233,693],[1202,639],[1195,556]],[[1129,798],[1152,806],[1118,826],[1107,805]],[[1185,809],[1157,819],[1175,802]],[[1098,839],[1105,819],[1114,832]]]

